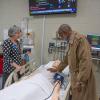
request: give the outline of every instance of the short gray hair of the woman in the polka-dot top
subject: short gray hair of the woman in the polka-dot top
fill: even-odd
[[[21,32],[21,28],[16,25],[13,25],[8,30],[8,36],[13,37],[16,34],[16,32]]]

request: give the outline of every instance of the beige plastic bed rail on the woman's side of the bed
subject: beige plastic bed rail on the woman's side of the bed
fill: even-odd
[[[19,71],[19,74],[21,77],[27,76],[30,73],[32,73],[35,69],[36,69],[36,64],[34,60],[31,60],[30,62],[22,66],[21,70]],[[19,78],[18,78],[18,72],[15,69],[6,80],[4,88],[17,81],[19,81]]]

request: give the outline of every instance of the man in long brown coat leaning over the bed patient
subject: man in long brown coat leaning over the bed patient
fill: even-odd
[[[72,31],[67,24],[62,24],[59,27],[58,35],[61,39],[68,41],[68,50],[64,61],[48,70],[61,72],[69,65],[72,100],[96,100],[91,49],[86,37]]]

